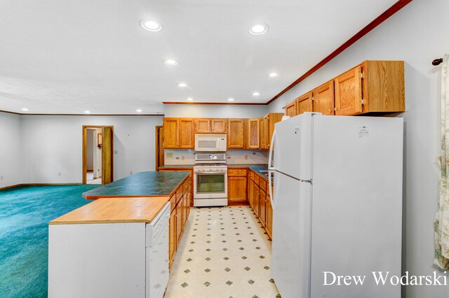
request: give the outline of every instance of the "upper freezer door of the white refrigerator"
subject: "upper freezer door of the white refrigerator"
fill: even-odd
[[[277,171],[302,180],[311,179],[311,125],[312,113],[275,124],[274,168]]]

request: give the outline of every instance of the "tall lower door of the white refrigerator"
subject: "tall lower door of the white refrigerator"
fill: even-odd
[[[282,297],[309,297],[311,185],[274,172],[272,276]]]

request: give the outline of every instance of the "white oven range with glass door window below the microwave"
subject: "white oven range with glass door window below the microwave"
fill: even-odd
[[[227,206],[226,153],[195,153],[194,206]]]

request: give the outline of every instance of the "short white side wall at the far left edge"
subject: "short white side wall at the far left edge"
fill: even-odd
[[[21,182],[20,127],[20,115],[0,112],[0,188]]]

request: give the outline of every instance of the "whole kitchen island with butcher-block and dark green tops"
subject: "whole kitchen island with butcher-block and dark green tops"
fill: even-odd
[[[142,172],[84,192],[85,199],[94,201],[49,222],[49,293],[67,293],[67,289],[86,290],[82,285],[91,276],[91,280],[99,284],[88,283],[90,293],[99,287],[114,289],[115,285],[120,285],[118,289],[123,292],[112,290],[114,294],[145,297],[145,283],[148,285],[154,281],[142,280],[145,272],[150,270],[147,268],[148,262],[145,262],[145,255],[152,249],[150,240],[155,233],[167,229],[166,235],[161,236],[162,241],[157,242],[159,249],[154,248],[153,253],[166,250],[166,256],[151,260],[163,262],[157,264],[157,268],[167,266],[167,269],[158,269],[158,272],[164,272],[163,276],[168,278],[168,266],[171,266],[189,217],[191,182],[189,172]],[[168,225],[150,229],[150,226],[161,222],[161,217],[167,220]],[[160,249],[161,245],[163,250]],[[121,254],[123,257],[109,260],[112,255]],[[117,263],[119,260],[120,264]],[[114,264],[112,269],[108,264]],[[88,268],[88,276],[75,274],[67,279],[60,274],[65,269],[73,272],[75,267],[81,271]],[[109,269],[105,271],[105,268]],[[133,276],[126,281],[125,278],[117,281],[116,277],[123,272],[126,276]],[[96,279],[98,276],[102,278]],[[111,281],[117,282],[111,284]],[[152,288],[165,288],[166,280],[164,278],[164,281],[157,283]],[[83,292],[79,297],[85,294],[88,293]]]

